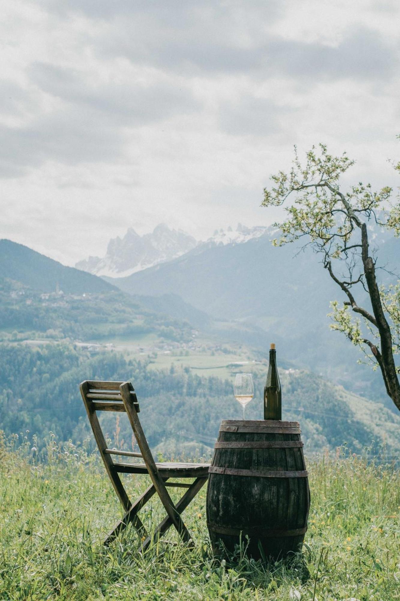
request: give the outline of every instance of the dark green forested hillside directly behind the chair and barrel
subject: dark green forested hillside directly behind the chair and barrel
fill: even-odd
[[[282,371],[283,419],[298,419],[306,450],[321,451],[347,444],[362,451],[383,443],[392,455],[399,450],[400,418],[379,406],[380,419],[371,422],[375,404],[333,386],[306,371]],[[233,374],[232,374],[233,376]],[[265,371],[253,369],[256,392],[247,407],[249,419],[262,418]],[[199,377],[189,368],[154,370],[150,359],[126,359],[116,352],[92,356],[68,344],[45,347],[0,345],[0,412],[2,429],[39,435],[40,444],[53,432],[59,441],[93,438],[79,394],[84,379],[132,380],[141,404],[141,419],[153,449],[165,454],[208,454],[220,420],[240,418],[232,381]],[[105,413],[103,423],[115,443],[132,448],[126,416]]]

